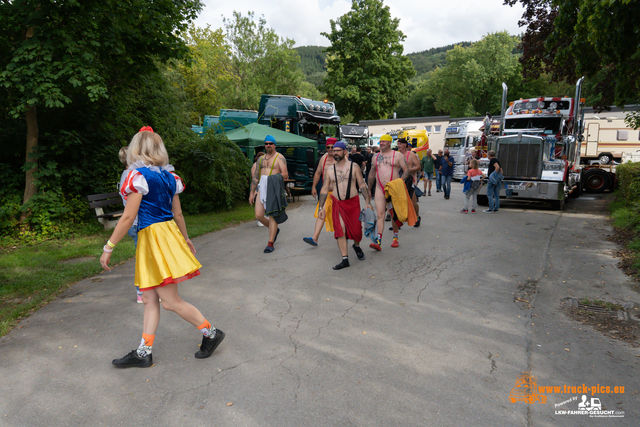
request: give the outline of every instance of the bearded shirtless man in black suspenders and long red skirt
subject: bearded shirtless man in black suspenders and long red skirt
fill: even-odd
[[[332,199],[334,237],[338,240],[338,248],[342,254],[342,262],[333,267],[334,270],[341,270],[349,267],[349,252],[347,239],[354,241],[353,250],[360,261],[364,260],[364,252],[360,248],[362,240],[362,223],[360,222],[360,196],[356,188],[356,181],[362,192],[365,202],[371,205],[369,189],[362,177],[362,169],[356,162],[347,161],[347,146],[344,142],[338,141],[333,146],[333,158],[335,163],[327,169],[324,184],[320,191],[318,218],[324,219],[327,213],[324,206],[329,194],[329,188],[334,188]],[[337,196],[337,197],[336,197]],[[373,206],[371,206],[373,208]]]

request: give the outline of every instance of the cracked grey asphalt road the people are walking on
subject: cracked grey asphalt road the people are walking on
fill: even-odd
[[[272,254],[255,221],[195,239],[202,275],[180,292],[227,334],[209,359],[193,356],[199,331],[163,312],[155,365],[113,368],[140,340],[134,264],[73,285],[0,339],[0,425],[637,426],[640,352],[560,310],[565,297],[640,302],[604,239],[612,196],[463,215],[459,184],[433,194],[399,248],[385,230],[382,252],[366,242],[338,272],[332,234],[302,241],[310,196]],[[556,413],[577,410],[578,391],[512,403],[523,371],[539,386],[624,386],[587,393],[624,417]]]

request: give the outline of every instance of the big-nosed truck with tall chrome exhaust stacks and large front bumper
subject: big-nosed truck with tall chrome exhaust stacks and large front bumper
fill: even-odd
[[[502,84],[499,136],[487,136],[503,169],[500,195],[509,199],[547,200],[562,209],[569,196],[582,192],[580,145],[584,133],[582,82],[574,98],[520,99],[506,109],[507,85]],[[481,159],[487,173],[488,159]],[[493,171],[492,171],[493,172]],[[478,203],[487,203],[487,186],[478,191]]]

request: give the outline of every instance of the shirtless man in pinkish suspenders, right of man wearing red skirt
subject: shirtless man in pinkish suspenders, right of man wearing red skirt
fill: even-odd
[[[398,178],[400,169],[404,171],[401,177],[403,180],[409,176],[409,168],[404,160],[404,156],[402,154],[398,155],[398,153],[391,149],[392,140],[391,135],[382,135],[380,137],[380,152],[371,160],[371,173],[369,174],[369,186],[372,186],[373,182],[377,181],[375,184],[375,201],[376,216],[378,218],[378,237],[376,243],[372,243],[369,246],[377,251],[382,249],[380,244],[382,243],[384,215],[387,206],[387,201],[384,197],[384,186],[387,185],[387,182]],[[393,242],[391,243],[391,247],[397,248],[399,246],[398,225],[395,221],[391,221],[391,224],[393,225]]]

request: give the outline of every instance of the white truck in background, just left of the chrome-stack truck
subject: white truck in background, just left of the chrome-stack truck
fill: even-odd
[[[451,121],[447,125],[444,134],[444,148],[456,161],[453,169],[453,179],[461,180],[468,167],[465,165],[465,156],[470,149],[476,147],[478,139],[482,136],[483,122],[481,120]]]

